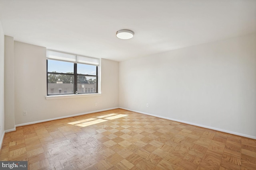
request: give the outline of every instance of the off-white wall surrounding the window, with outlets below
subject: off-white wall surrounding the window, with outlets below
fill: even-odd
[[[118,107],[116,61],[102,59],[101,96],[54,100],[45,98],[45,47],[14,41],[14,67],[16,125]]]

